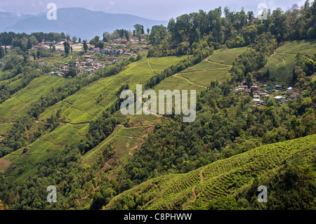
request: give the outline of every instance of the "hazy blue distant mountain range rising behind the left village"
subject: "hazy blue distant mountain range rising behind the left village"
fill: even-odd
[[[129,14],[110,14],[90,11],[85,8],[59,8],[57,20],[48,20],[46,13],[39,15],[17,15],[0,12],[0,32],[64,32],[70,36],[90,40],[103,32],[115,29],[133,30],[133,25],[143,25],[145,30],[154,25],[168,24],[167,21],[149,20]]]

